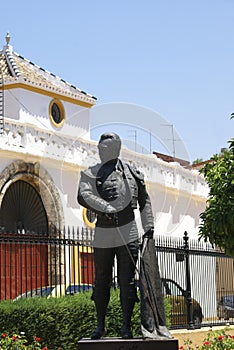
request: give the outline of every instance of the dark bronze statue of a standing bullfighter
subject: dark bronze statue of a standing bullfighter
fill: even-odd
[[[133,166],[119,159],[121,140],[115,133],[101,135],[98,150],[101,163],[81,172],[78,191],[78,202],[96,213],[97,221],[94,235],[95,285],[93,299],[97,314],[97,328],[91,334],[92,339],[100,339],[105,334],[106,309],[110,299],[112,268],[117,258],[118,283],[120,286],[120,302],[123,312],[121,336],[124,339],[133,337],[131,317],[137,291],[135,285],[135,269],[139,255],[139,236],[134,210],[139,207],[143,241],[153,240],[154,218],[151,202],[146,191],[143,174]],[[160,278],[159,278],[160,279]],[[158,283],[161,283],[158,281]],[[141,281],[140,281],[141,284]],[[152,301],[148,300],[147,286],[141,284],[144,294],[145,310],[152,309]],[[161,285],[161,284],[160,284]],[[163,297],[161,297],[163,304]],[[162,314],[164,306],[161,305]],[[147,319],[151,311],[143,312]],[[154,312],[154,310],[153,310]],[[156,338],[158,335],[171,337],[162,317],[161,332],[158,327],[150,327],[143,336]],[[148,327],[143,320],[142,329]],[[157,328],[158,331],[155,330]],[[146,334],[147,333],[147,334]]]

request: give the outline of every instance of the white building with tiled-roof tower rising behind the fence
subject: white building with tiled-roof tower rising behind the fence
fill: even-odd
[[[15,53],[9,41],[0,51],[0,225],[82,226],[77,186],[80,170],[98,161],[89,134],[96,99]],[[196,237],[208,193],[203,177],[126,148],[122,158],[145,174],[156,232]]]

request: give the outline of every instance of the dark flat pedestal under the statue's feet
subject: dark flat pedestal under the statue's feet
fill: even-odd
[[[82,338],[78,342],[78,350],[178,350],[177,339],[122,339],[102,338],[92,340]]]

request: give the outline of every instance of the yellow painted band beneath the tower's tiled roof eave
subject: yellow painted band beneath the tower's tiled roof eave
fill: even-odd
[[[44,89],[40,89],[40,88],[35,87],[35,86],[29,86],[29,85],[26,85],[23,83],[8,84],[8,85],[4,85],[4,87],[0,87],[0,90],[11,90],[11,89],[24,89],[24,90],[32,91],[32,92],[35,92],[35,93],[38,93],[41,95],[45,95],[45,96],[57,98],[57,99],[60,99],[60,100],[66,101],[66,102],[74,103],[76,105],[86,107],[86,108],[91,108],[94,106],[94,104],[89,103],[89,102],[76,100],[72,97],[64,96],[64,95],[58,94],[56,92],[46,91]]]

